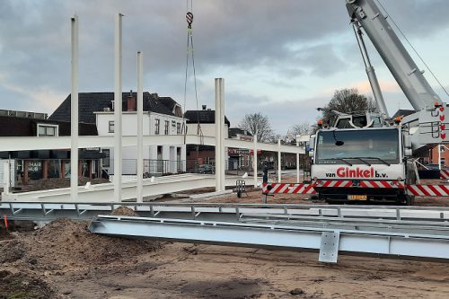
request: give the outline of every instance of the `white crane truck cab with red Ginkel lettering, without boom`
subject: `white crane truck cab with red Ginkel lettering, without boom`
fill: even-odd
[[[318,130],[311,140],[313,188],[330,203],[411,204],[405,186],[416,183],[417,170],[408,159],[409,140],[399,122],[368,113],[339,115],[334,127]]]

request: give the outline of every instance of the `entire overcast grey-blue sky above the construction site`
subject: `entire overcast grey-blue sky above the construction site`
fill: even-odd
[[[382,3],[449,88],[449,1]],[[183,106],[186,5],[184,0],[0,0],[0,109],[50,115],[64,101],[71,90],[74,13],[80,92],[114,91],[114,17],[123,13],[123,91],[136,90],[141,50],[144,90]],[[344,0],[193,0],[193,13],[199,107],[214,109],[214,78],[225,78],[225,114],[232,127],[243,115],[261,112],[277,133],[286,134],[296,123],[314,122],[316,108],[335,90],[357,87],[371,95]],[[411,108],[365,42],[390,114]],[[449,102],[428,71],[425,75]],[[191,79],[189,73],[187,110],[196,109]]]

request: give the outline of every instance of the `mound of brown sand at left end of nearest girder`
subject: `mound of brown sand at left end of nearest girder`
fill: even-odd
[[[150,240],[112,238],[89,232],[87,222],[60,218],[39,231],[0,244],[7,262],[21,260],[33,268],[58,270],[135,259],[163,247]]]

